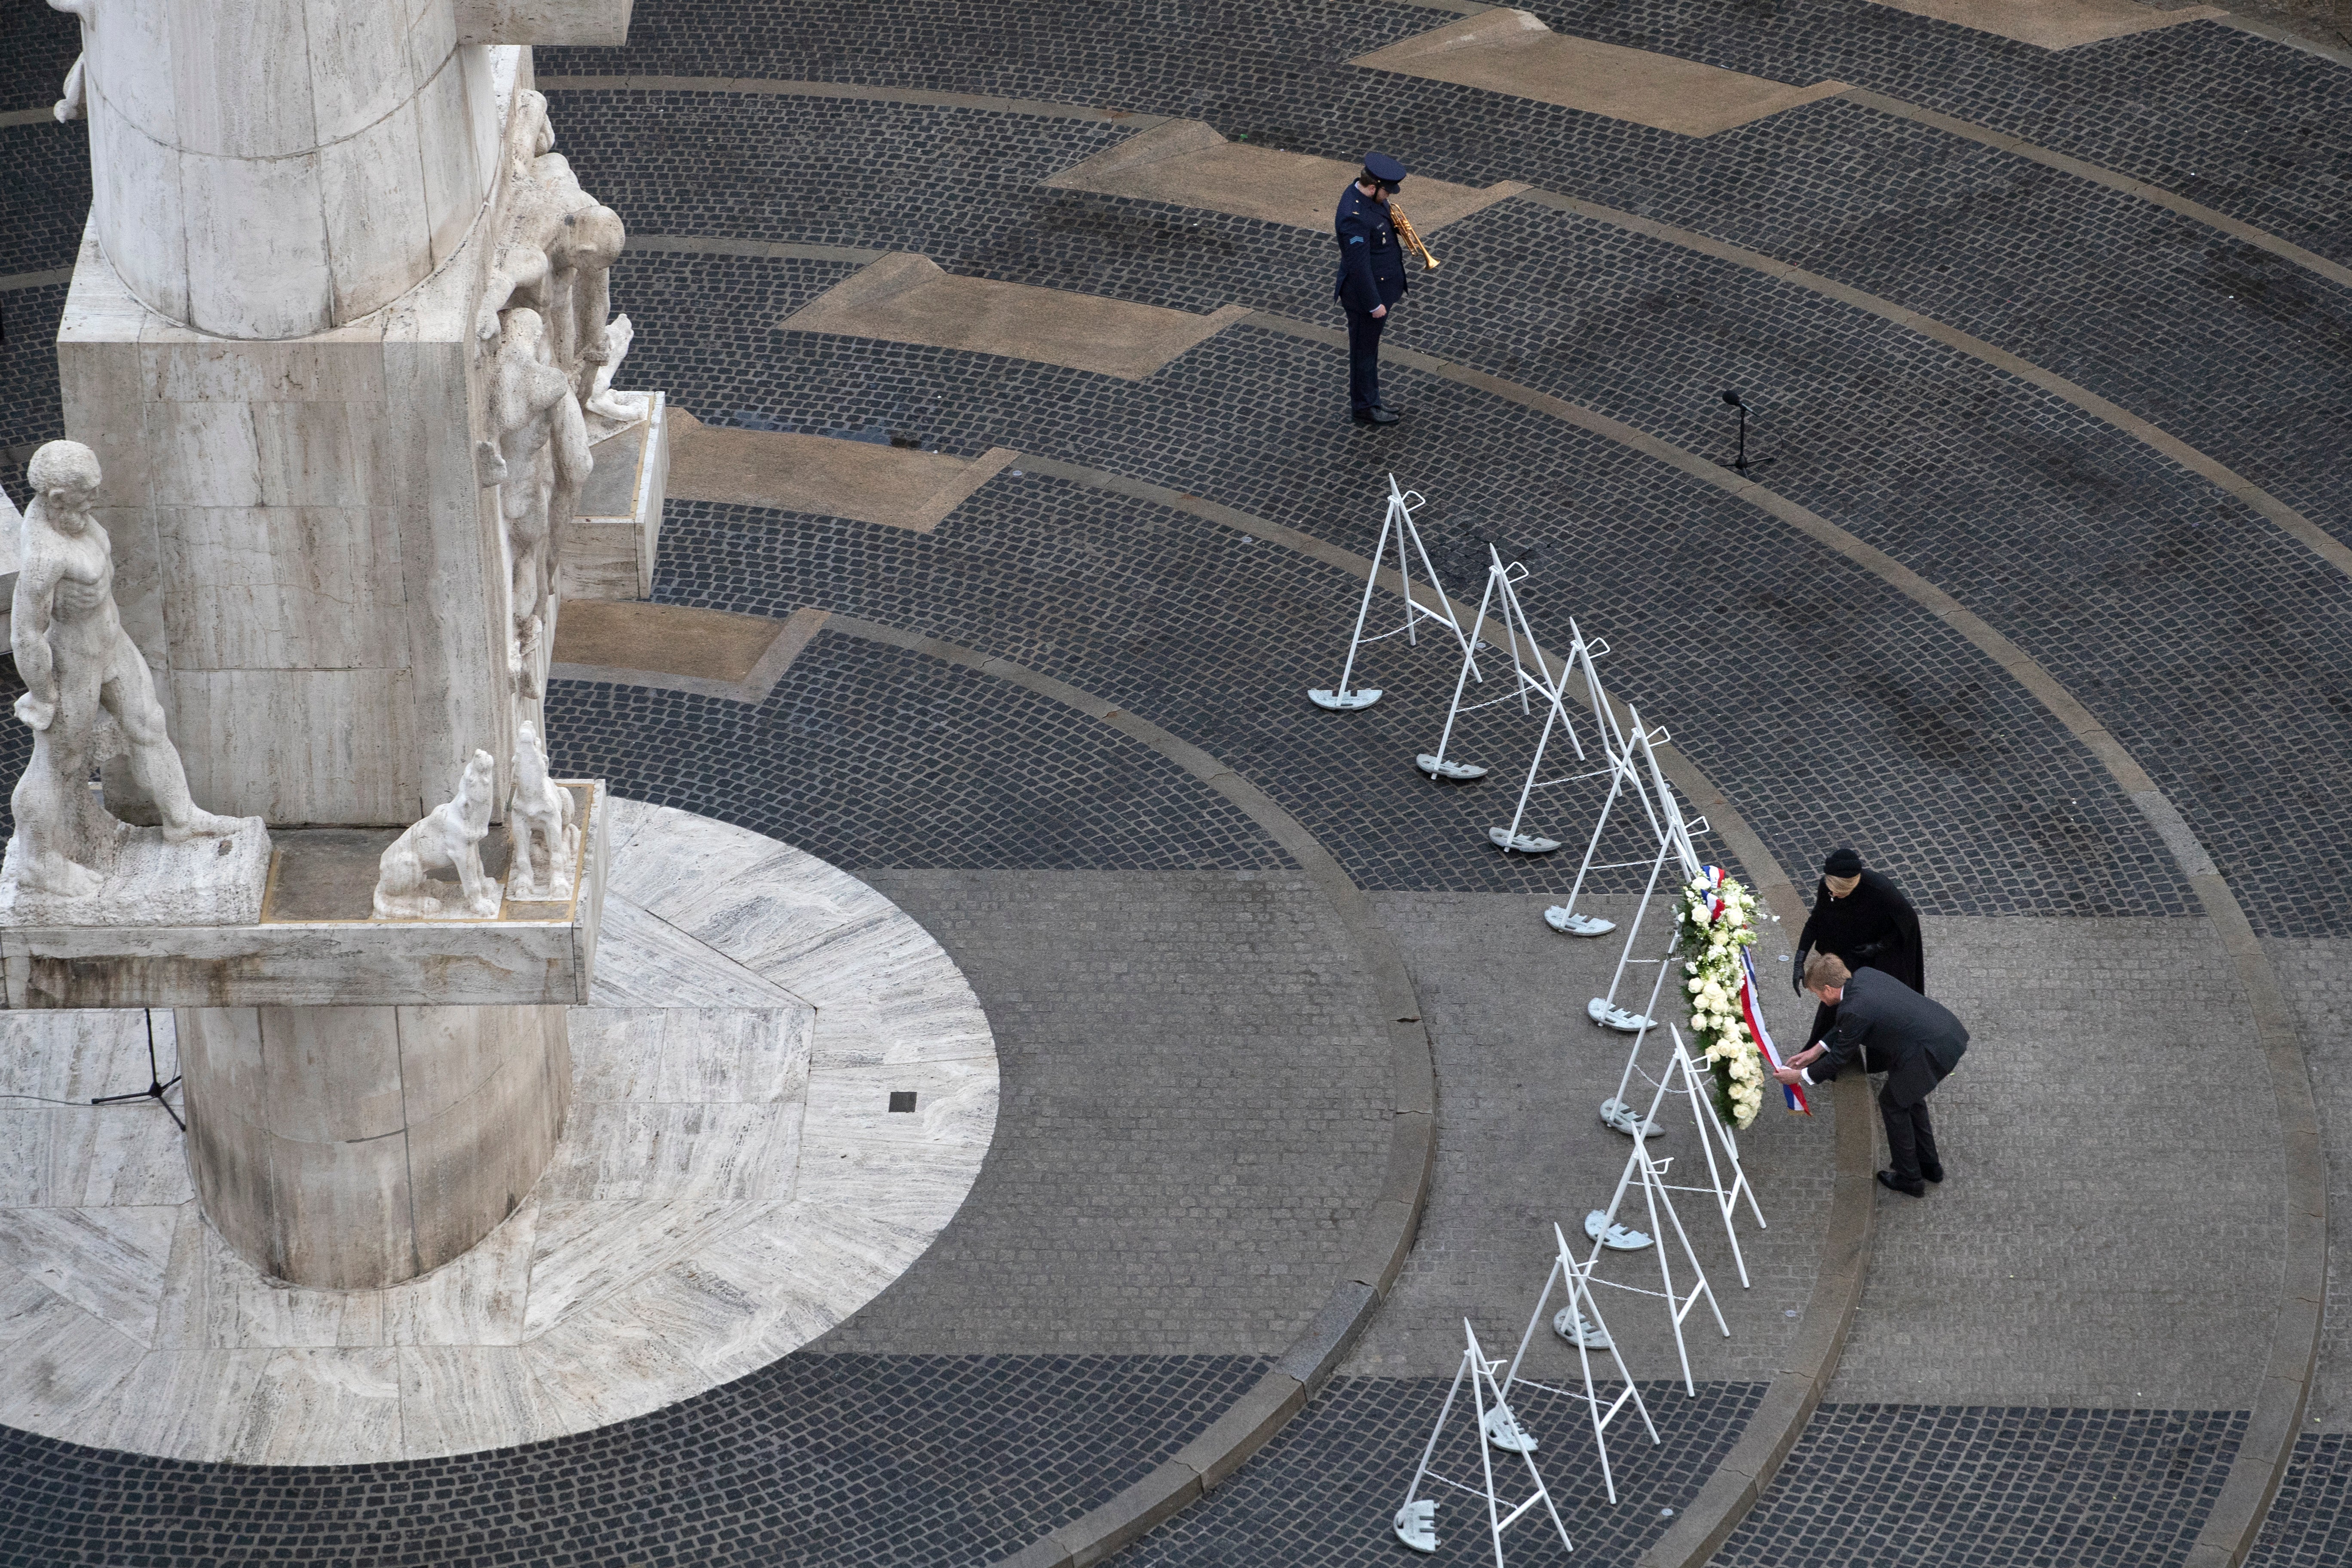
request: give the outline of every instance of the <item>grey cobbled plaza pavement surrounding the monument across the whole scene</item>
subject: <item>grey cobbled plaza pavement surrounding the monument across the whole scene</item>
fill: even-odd
[[[1562,33],[1870,87],[2352,261],[2352,73],[2230,26],[2046,52],[1867,0],[1536,12]],[[1943,320],[2352,541],[2352,292],[2324,273],[1853,99],[1689,139],[1345,63],[1446,21],[1385,0],[666,0],[637,7],[630,47],[541,49],[536,68],[1185,115],[1331,158],[1378,136],[1423,174],[1526,179]],[[75,26],[0,14],[0,113],[56,96]],[[1341,353],[1279,322],[1129,383],[786,334],[854,263],[677,249],[917,249],[1007,282],[1336,322],[1322,235],[1042,186],[1131,134],[1115,120],[557,89],[555,125],[633,235],[670,237],[614,273],[640,329],[626,381],[706,423],[1016,447],[1359,555],[1395,468],[1435,498],[1449,588],[1477,597],[1489,543],[1522,559],[1538,628],[1576,614],[1609,637],[1611,689],[1672,726],[1780,870],[1809,884],[1835,842],[1891,870],[1929,910],[1933,994],[1976,1030],[1936,1098],[1952,1178],[1926,1201],[1877,1194],[1828,1401],[1719,1561],[2183,1559],[2270,1347],[2277,1107],[2256,1053],[2232,1048],[2244,997],[2213,912],[2091,748],[1978,644],[1750,501],[1526,402],[1392,367],[1409,423],[1357,433],[1338,418]],[[71,266],[85,150],[78,125],[0,125],[0,280],[16,284],[0,289],[0,449],[61,433],[66,292],[28,275]],[[1442,249],[1444,277],[1392,343],[1705,456],[1729,451],[1717,388],[1745,386],[1769,489],[1957,595],[2079,698],[2267,938],[2326,1143],[2352,1150],[2352,1074],[2336,1072],[2352,1051],[2352,818],[2336,804],[2352,585],[2326,559],[2074,402],[1785,277],[1529,200],[1451,226]],[[24,498],[14,463],[0,482]],[[927,536],[713,503],[666,520],[663,602],[946,637],[1200,748],[1374,893],[1411,969],[1439,1070],[1421,1241],[1298,1420],[1127,1552],[1155,1568],[1402,1561],[1388,1516],[1461,1319],[1489,1352],[1517,1340],[1545,1227],[1604,1201],[1628,1150],[1595,1119],[1621,1041],[1583,1018],[1613,952],[1538,924],[1564,867],[1482,846],[1508,785],[1442,790],[1409,766],[1449,658],[1381,644],[1381,708],[1301,701],[1336,670],[1352,595],[1289,545],[1018,463]],[[1383,1178],[1390,1020],[1348,922],[1284,849],[1301,839],[1127,729],[842,625],[760,705],[557,684],[550,719],[567,771],[854,867],[948,945],[1004,1065],[971,1201],[818,1345],[576,1439],[332,1472],[0,1432],[0,1559],[981,1566],[1148,1476],[1315,1316]],[[1510,729],[1486,717],[1468,738],[1508,750]],[[0,736],[0,771],[21,733]],[[1623,917],[1637,879],[1609,872],[1604,907]],[[1771,936],[1771,1016],[1802,1044],[1773,961],[1788,933]],[[1743,1138],[1771,1222],[1736,1222],[1748,1288],[1708,1201],[1684,1194],[1733,1328],[1693,1316],[1696,1394],[1670,1382],[1649,1298],[1613,1314],[1663,1439],[1613,1429],[1616,1505],[1581,1410],[1515,1401],[1578,1542],[1566,1561],[1635,1561],[1769,1408],[1813,1295],[1832,1135],[1828,1107],[1769,1107]],[[1661,1152],[1691,1175],[1689,1128]],[[2345,1234],[2340,1178],[2333,1197]],[[1646,1260],[1611,1276],[1646,1284]],[[2331,1563],[2352,1542],[2347,1354],[2336,1314],[2258,1563]],[[1571,1366],[1538,1331],[1529,1368],[1557,1382]],[[1468,1476],[1468,1432],[1442,1458]],[[1475,1512],[1446,1495],[1437,1561],[1479,1561]],[[1526,1523],[1512,1547],[1557,1561]]]

